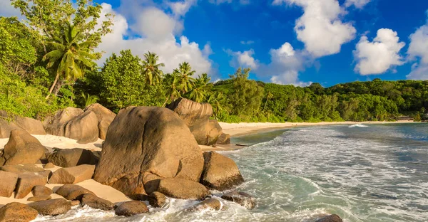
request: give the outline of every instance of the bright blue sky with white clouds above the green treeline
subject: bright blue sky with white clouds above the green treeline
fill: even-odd
[[[170,73],[328,87],[356,80],[428,80],[427,0],[96,0],[114,14],[98,65],[123,49],[157,53]],[[19,12],[0,0],[0,16]],[[100,18],[106,19],[105,16]]]

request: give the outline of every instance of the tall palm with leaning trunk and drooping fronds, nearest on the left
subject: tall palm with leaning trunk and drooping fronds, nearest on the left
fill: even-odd
[[[81,32],[78,28],[71,23],[67,23],[67,26],[61,30],[61,36],[54,38],[54,41],[47,42],[48,45],[54,48],[53,51],[46,53],[43,60],[48,60],[47,68],[55,68],[56,77],[54,83],[49,89],[49,94],[46,99],[49,98],[52,91],[57,95],[63,80],[77,80],[81,78],[85,70],[93,68],[93,59],[96,56],[89,52],[89,46],[91,41],[85,41],[79,43],[81,40]],[[58,80],[61,78],[60,83]]]

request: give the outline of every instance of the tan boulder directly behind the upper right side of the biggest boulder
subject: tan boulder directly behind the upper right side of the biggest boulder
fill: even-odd
[[[217,120],[210,120],[213,107],[208,103],[198,103],[180,98],[167,105],[185,122],[198,144],[213,145],[222,134]]]

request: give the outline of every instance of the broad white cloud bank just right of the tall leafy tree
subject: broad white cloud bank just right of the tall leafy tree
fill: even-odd
[[[113,33],[104,36],[103,42],[98,47],[100,51],[106,52],[98,64],[102,64],[108,56],[111,56],[111,53],[131,49],[134,54],[141,58],[147,51],[157,53],[160,61],[165,63],[163,68],[165,73],[172,72],[179,63],[188,61],[197,73],[215,74],[211,60],[208,58],[211,53],[209,44],[205,44],[201,49],[198,43],[189,41],[186,36],[180,36],[178,40],[175,39],[178,33],[177,27],[180,27],[180,21],[175,15],[184,16],[183,11],[185,10],[183,8],[176,6],[177,8],[171,9],[175,15],[169,15],[154,6],[139,6],[141,9],[135,10],[136,6],[133,5],[132,11],[138,13],[131,14],[134,23],[129,26],[127,18],[114,11],[110,4],[103,3],[101,5],[103,6],[103,14],[110,13],[116,16],[113,21]],[[123,10],[125,7],[121,6],[121,9]],[[132,34],[129,33],[130,29],[133,31]]]

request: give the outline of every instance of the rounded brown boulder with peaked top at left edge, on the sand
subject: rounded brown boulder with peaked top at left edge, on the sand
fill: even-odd
[[[45,147],[39,140],[22,129],[14,129],[0,158],[4,165],[35,164],[44,153]]]

